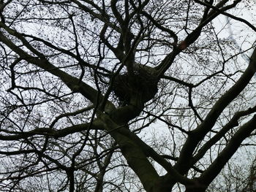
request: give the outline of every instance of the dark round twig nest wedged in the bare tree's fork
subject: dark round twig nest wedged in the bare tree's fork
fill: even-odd
[[[131,99],[145,103],[157,93],[157,82],[156,77],[142,70],[134,74],[118,74],[113,82],[113,91],[125,104],[129,104]]]

